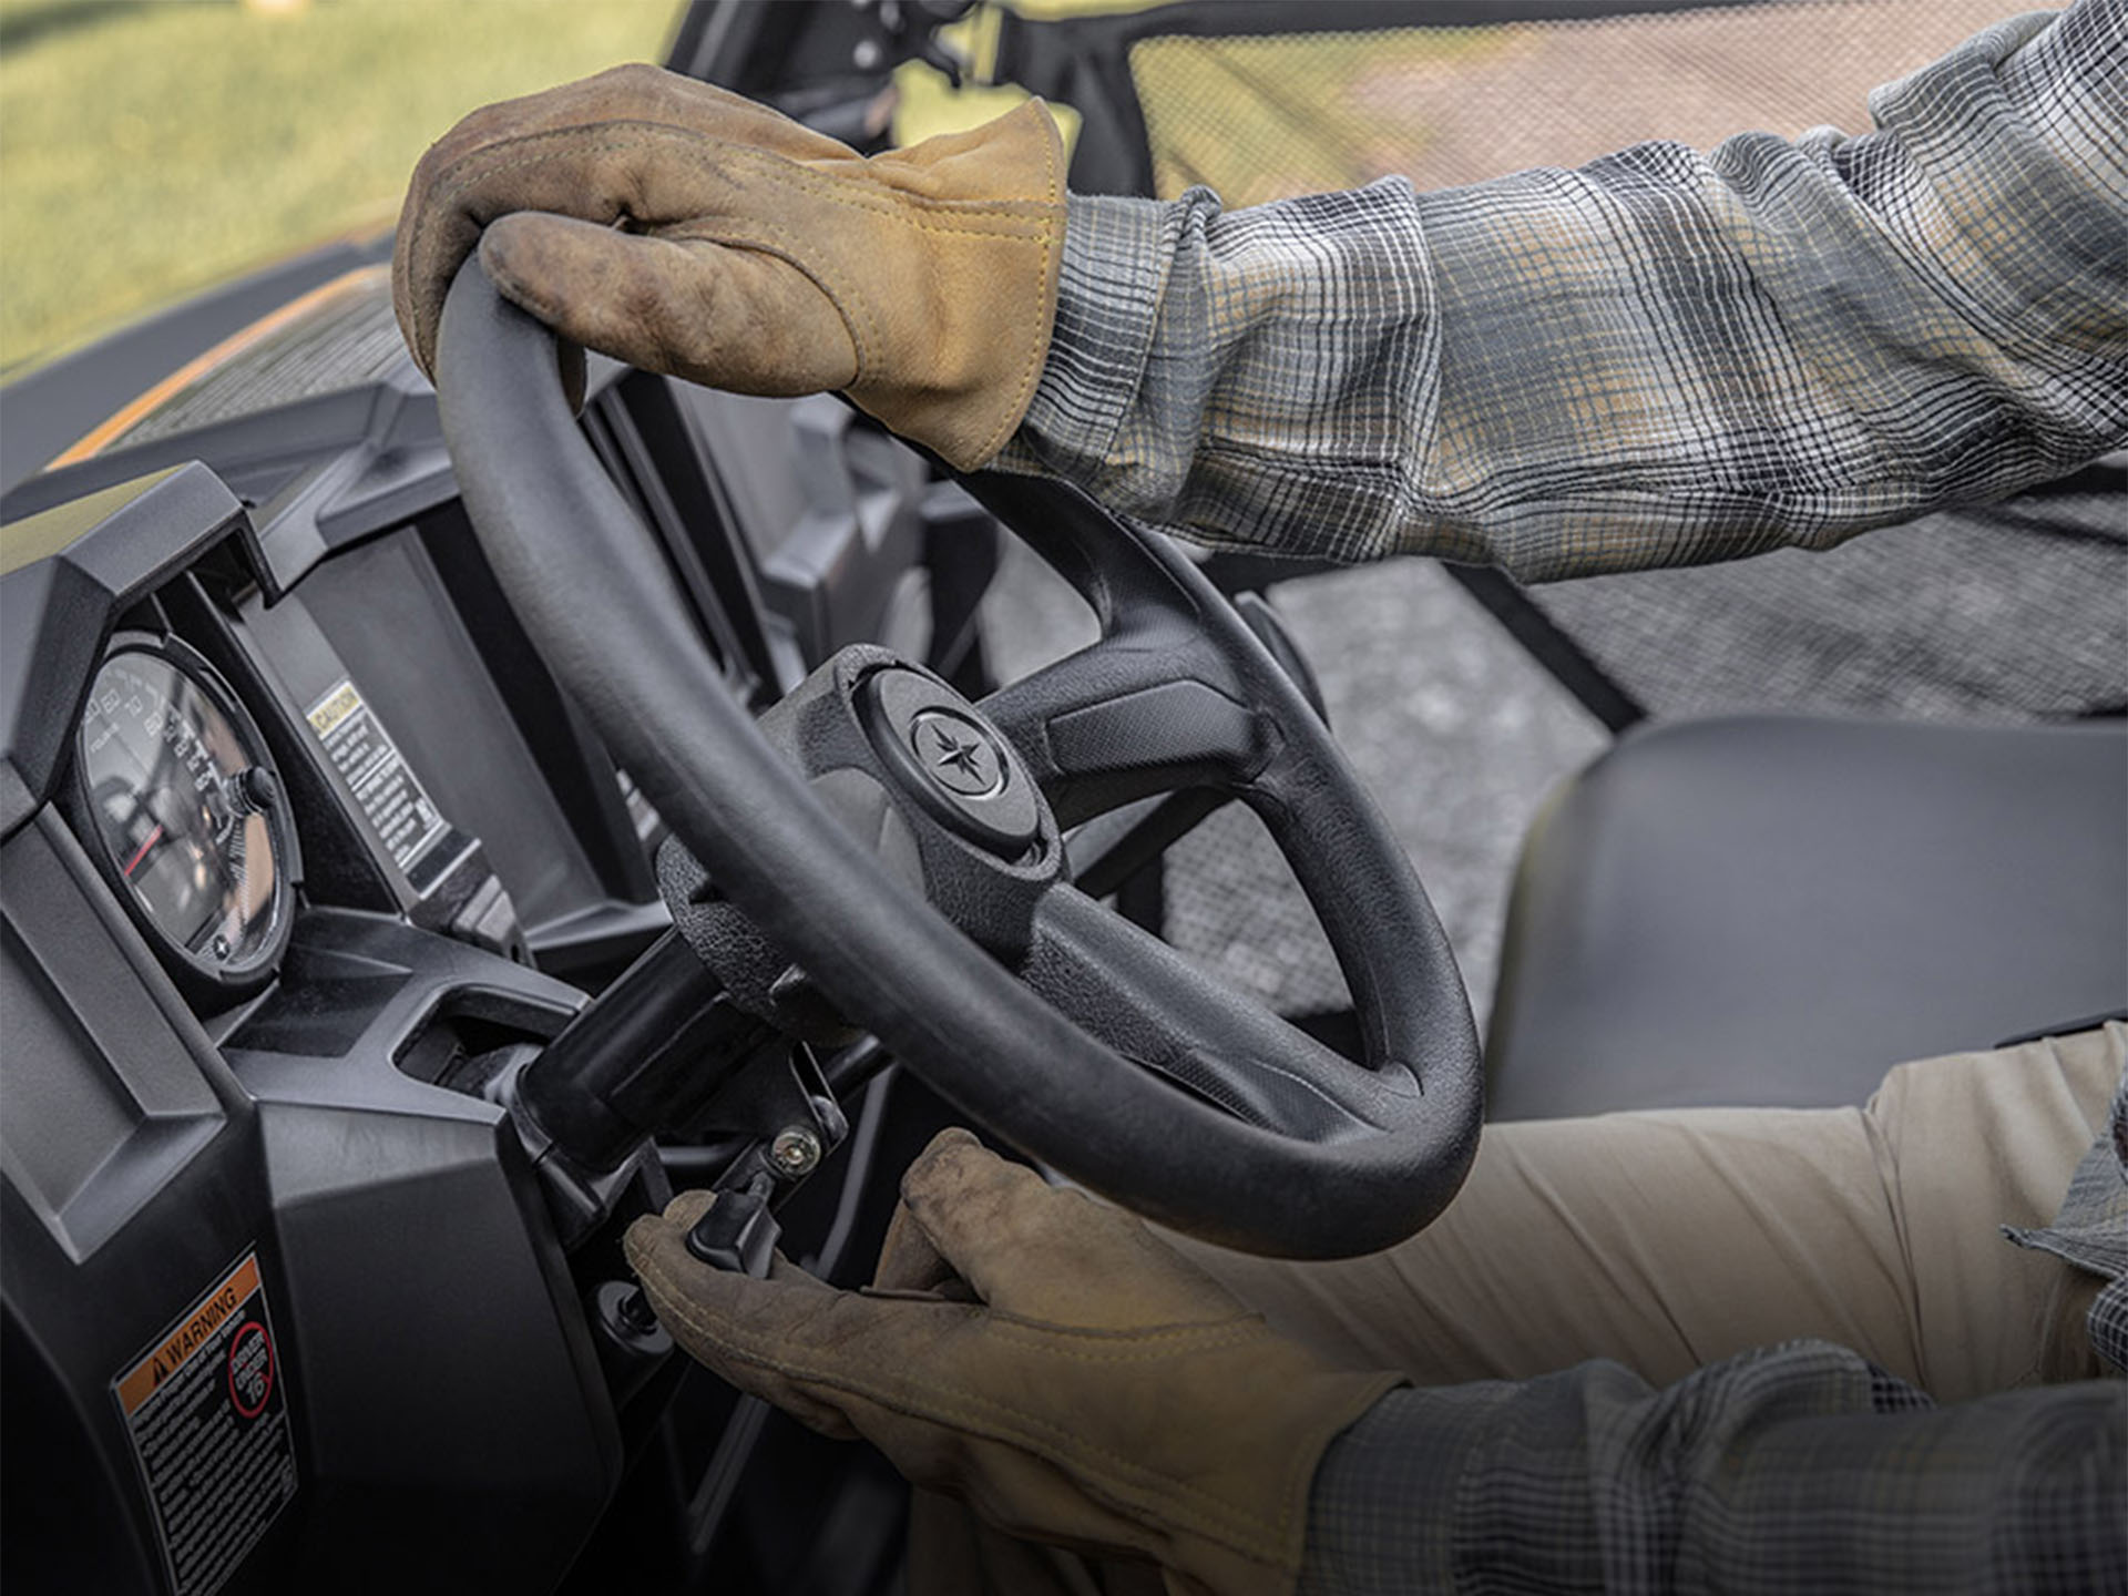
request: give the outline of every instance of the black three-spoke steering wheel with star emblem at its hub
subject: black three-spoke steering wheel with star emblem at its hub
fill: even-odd
[[[553,336],[472,257],[438,409],[526,630],[715,887],[981,1126],[1168,1226],[1343,1258],[1426,1226],[1477,1151],[1447,938],[1328,728],[1173,547],[1077,489],[966,479],[1102,636],[970,704],[849,647],[755,721],[564,400]],[[1247,802],[1351,987],[1366,1064],[1070,885],[1062,828],[1185,785]]]

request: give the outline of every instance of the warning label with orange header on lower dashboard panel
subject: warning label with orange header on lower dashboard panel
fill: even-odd
[[[111,1383],[177,1596],[213,1596],[296,1496],[287,1390],[249,1253]]]

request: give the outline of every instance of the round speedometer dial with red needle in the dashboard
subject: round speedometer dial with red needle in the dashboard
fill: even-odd
[[[221,677],[181,643],[121,641],[83,709],[77,772],[106,875],[164,960],[221,987],[268,975],[287,938],[287,821]]]

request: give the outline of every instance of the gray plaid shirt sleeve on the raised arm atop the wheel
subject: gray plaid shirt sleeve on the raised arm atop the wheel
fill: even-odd
[[[1830,547],[2128,438],[2128,0],[1990,28],[1871,113],[1436,194],[1073,198],[1000,466],[1541,581]]]

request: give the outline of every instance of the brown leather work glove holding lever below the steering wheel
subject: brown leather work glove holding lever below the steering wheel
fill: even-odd
[[[1173,1592],[1290,1592],[1315,1464],[1400,1383],[1319,1362],[1136,1217],[966,1130],[909,1166],[866,1292],[696,1262],[709,1200],[628,1230],[681,1347],[1011,1534],[1153,1560]]]

